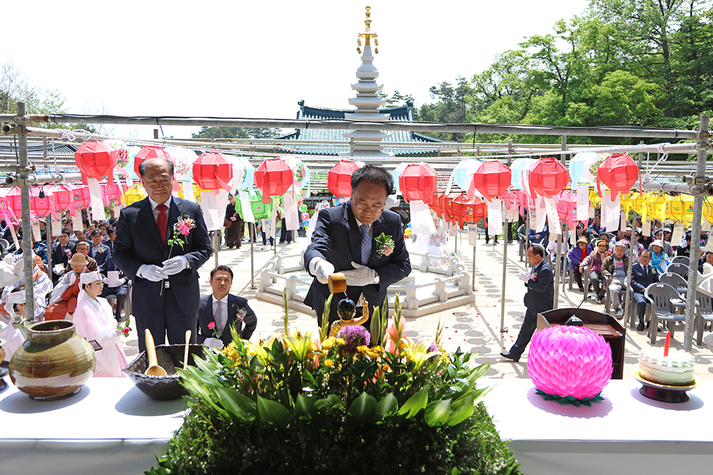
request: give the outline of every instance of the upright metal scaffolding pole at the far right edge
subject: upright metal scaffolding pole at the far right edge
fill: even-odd
[[[706,180],[706,155],[710,145],[708,143],[709,116],[701,116],[700,137],[697,144],[698,159],[696,162],[696,177],[694,185],[702,185]],[[696,194],[693,198],[693,222],[691,223],[691,257],[688,268],[688,291],[686,295],[686,330],[683,337],[683,347],[686,351],[693,348],[693,324],[696,316],[696,297],[698,288],[698,255],[701,246],[701,217],[703,215],[703,195]],[[652,328],[651,331],[656,331]]]

